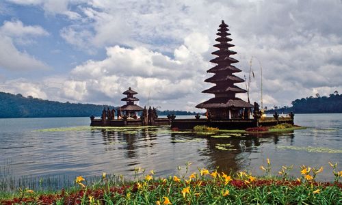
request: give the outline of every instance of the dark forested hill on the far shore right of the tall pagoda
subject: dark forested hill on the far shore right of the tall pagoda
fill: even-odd
[[[342,113],[342,94],[334,92],[329,96],[310,96],[308,98],[302,98],[293,100],[291,102],[292,107],[276,108],[279,112],[284,113]],[[267,111],[269,113],[274,112],[274,109]]]

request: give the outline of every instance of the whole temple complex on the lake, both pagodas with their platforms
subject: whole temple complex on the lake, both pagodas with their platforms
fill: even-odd
[[[171,124],[171,128],[174,129],[192,129],[197,125],[220,129],[246,129],[259,126],[274,126],[276,124],[293,124],[293,113],[282,118],[279,117],[278,113],[274,113],[273,118],[266,118],[257,102],[252,105],[250,102],[237,98],[236,94],[246,93],[247,91],[241,89],[235,83],[244,83],[245,80],[235,75],[241,70],[232,65],[239,61],[231,57],[237,52],[230,50],[234,45],[229,43],[232,39],[228,38],[231,35],[231,33],[227,32],[229,31],[228,25],[222,20],[219,27],[218,33],[216,33],[218,38],[215,39],[218,44],[213,45],[218,48],[218,51],[212,53],[217,57],[210,61],[217,65],[207,70],[207,72],[213,73],[213,76],[205,80],[205,82],[214,83],[215,85],[202,91],[202,93],[214,94],[214,97],[196,105],[196,108],[206,109],[205,118],[201,119],[201,116],[197,114],[192,119],[176,119],[174,114],[169,114],[168,118],[159,119],[154,108],[150,107],[147,110],[146,107],[143,109],[134,105],[133,102],[139,100],[133,96],[137,92],[129,88],[123,93],[127,94],[127,98],[122,99],[122,101],[127,102],[127,105],[118,109],[118,119],[114,120],[115,111],[105,111],[104,109],[102,119],[96,120],[92,118],[91,126]],[[142,111],[140,118],[137,118],[137,111]],[[122,115],[122,112],[124,112],[124,115]]]

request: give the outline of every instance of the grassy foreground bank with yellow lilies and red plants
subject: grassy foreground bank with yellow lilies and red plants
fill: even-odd
[[[189,164],[188,164],[189,165]],[[132,180],[107,176],[87,183],[79,176],[75,187],[39,193],[19,189],[0,200],[0,204],[341,204],[342,171],[330,163],[334,182],[316,182],[324,168],[301,167],[301,178],[289,177],[292,167],[282,167],[278,176],[270,176],[271,163],[260,168],[264,176],[249,172],[235,174],[198,169],[189,174],[157,178],[155,172],[135,169]]]

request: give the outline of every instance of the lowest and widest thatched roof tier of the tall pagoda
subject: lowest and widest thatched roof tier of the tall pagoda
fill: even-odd
[[[205,102],[196,105],[196,108],[250,108],[252,104],[241,100],[240,98],[211,98]]]

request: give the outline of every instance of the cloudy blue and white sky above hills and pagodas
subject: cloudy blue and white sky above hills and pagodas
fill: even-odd
[[[251,102],[261,79],[269,108],[342,92],[341,0],[2,0],[0,92],[119,106],[132,87],[141,106],[203,111],[221,20]]]

